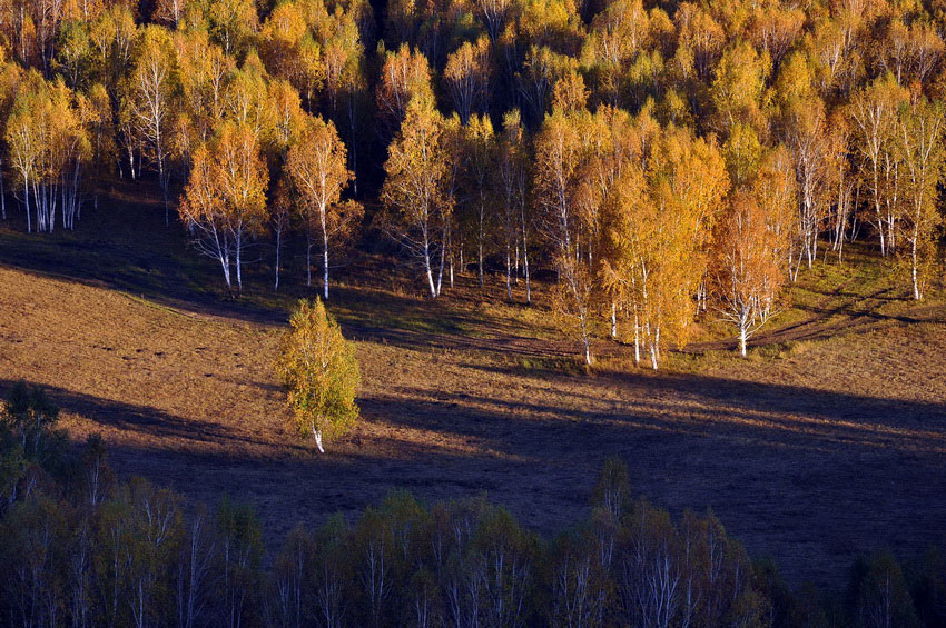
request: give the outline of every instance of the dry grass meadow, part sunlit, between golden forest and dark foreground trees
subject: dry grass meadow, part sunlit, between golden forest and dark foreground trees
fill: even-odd
[[[942,538],[946,307],[905,300],[866,249],[804,272],[748,360],[708,323],[658,373],[607,340],[581,372],[541,299],[504,305],[499,278],[434,303],[381,257],[342,268],[332,308],[357,342],[363,421],[319,456],[288,429],[272,368],[298,278],[274,296],[257,265],[233,302],[179,228],[114,193],[75,235],[0,228],[0,391],[46,386],[71,438],[101,432],[122,477],[249,500],[275,539],[398,487],[485,491],[552,532],[619,455],[637,494],[712,508],[795,584]]]

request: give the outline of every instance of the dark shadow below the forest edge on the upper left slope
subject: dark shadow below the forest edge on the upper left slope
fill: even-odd
[[[107,205],[102,200],[101,207]],[[17,219],[0,223],[0,265],[118,290],[186,313],[262,325],[285,325],[297,299],[321,293],[318,279],[312,287],[306,286],[300,268],[284,271],[279,291],[274,290],[273,269],[260,262],[270,256],[270,245],[259,242],[246,253],[249,261],[244,268],[245,292],[233,298],[224,288],[217,262],[187,245],[183,226],[173,222],[165,227],[162,210],[156,211],[148,203],[121,201],[118,212],[125,212],[127,220],[87,217],[75,232],[60,229],[51,235],[26,233],[24,225]],[[104,213],[100,209],[99,215]],[[283,253],[286,266],[300,261],[290,255],[292,242],[289,239]],[[295,258],[298,257],[296,251]],[[462,336],[471,326],[499,326],[491,317],[456,307],[450,299],[434,302],[418,298],[422,292],[401,286],[405,278],[384,260],[368,257],[364,263],[334,272],[332,309],[346,331],[365,340],[415,348],[431,340],[435,346],[447,347],[445,338]],[[395,283],[400,282],[396,292],[345,283],[346,277],[382,282],[388,275],[397,279]]]

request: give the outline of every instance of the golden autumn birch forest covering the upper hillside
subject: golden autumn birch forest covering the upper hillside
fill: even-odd
[[[3,179],[66,229],[110,177],[155,180],[243,288],[305,236],[329,293],[371,225],[436,298],[553,269],[591,363],[601,318],[660,362],[697,317],[741,351],[780,291],[858,237],[915,299],[940,263],[935,2],[154,0],[0,7]],[[362,182],[359,186],[358,182]],[[179,191],[179,195],[178,195]],[[367,213],[363,201],[381,201]],[[0,195],[2,198],[2,195]],[[8,209],[2,203],[3,215]],[[313,256],[313,252],[316,252]]]

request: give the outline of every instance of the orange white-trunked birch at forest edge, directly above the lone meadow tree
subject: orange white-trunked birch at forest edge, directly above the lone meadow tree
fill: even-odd
[[[298,140],[289,148],[286,173],[298,200],[299,215],[308,232],[317,230],[322,238],[322,292],[328,299],[328,249],[333,241],[351,233],[364,210],[354,201],[339,202],[342,192],[355,178],[346,168],[345,144],[338,139],[335,124],[319,117],[309,117],[299,131]],[[306,282],[312,285],[306,246]]]

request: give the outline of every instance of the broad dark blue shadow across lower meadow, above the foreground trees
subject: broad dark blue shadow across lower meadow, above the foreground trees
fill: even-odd
[[[425,500],[486,491],[552,534],[587,514],[609,456],[628,462],[637,495],[673,512],[712,507],[796,582],[830,579],[876,544],[919,550],[946,519],[944,403],[699,376],[524,379],[501,392],[366,395],[371,429],[329,443],[324,456],[307,442],[49,391],[108,433],[129,432],[109,443],[122,477],[144,476],[194,501],[250,500],[274,545],[297,521],[354,517],[397,488]],[[0,393],[10,385],[0,381]]]

